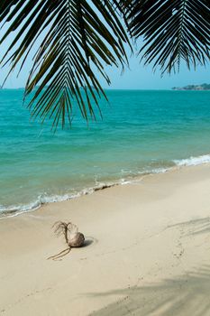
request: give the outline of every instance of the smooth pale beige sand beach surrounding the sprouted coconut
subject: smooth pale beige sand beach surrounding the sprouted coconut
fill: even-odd
[[[0,220],[1,315],[210,315],[210,165]],[[66,248],[51,226],[87,238]]]

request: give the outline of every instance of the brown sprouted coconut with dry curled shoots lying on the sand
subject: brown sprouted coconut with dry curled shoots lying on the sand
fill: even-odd
[[[52,228],[57,237],[64,236],[68,248],[62,250],[58,255],[50,256],[48,259],[59,259],[61,256],[66,256],[70,252],[71,248],[83,246],[85,243],[85,237],[82,233],[78,232],[77,225],[63,221],[56,222]]]

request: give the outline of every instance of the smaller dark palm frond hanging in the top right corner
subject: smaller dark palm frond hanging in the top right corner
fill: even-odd
[[[129,31],[143,38],[140,50],[145,64],[154,70],[179,70],[181,60],[205,65],[210,60],[209,0],[120,1]]]

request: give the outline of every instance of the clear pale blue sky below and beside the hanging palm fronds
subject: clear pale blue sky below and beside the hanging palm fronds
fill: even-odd
[[[1,30],[0,36],[4,33]],[[13,40],[13,34],[5,41],[0,51],[0,58]],[[32,51],[34,54],[35,49]],[[14,71],[7,79],[4,88],[24,88],[29,71],[32,67],[32,54],[26,61],[23,71],[17,78],[17,71]],[[130,49],[127,49],[128,56],[131,55]],[[3,83],[6,73],[9,70],[9,65],[4,69],[0,69],[0,85]],[[156,70],[153,73],[151,66],[143,66],[140,63],[140,57],[133,54],[129,58],[129,68],[125,67],[122,73],[122,68],[106,67],[106,73],[111,79],[112,84],[108,86],[105,80],[97,75],[103,88],[112,89],[170,89],[172,87],[183,87],[188,84],[210,83],[210,65],[206,67],[198,66],[196,70],[187,70],[187,67],[182,64],[179,73],[165,74],[161,77],[160,71]]]

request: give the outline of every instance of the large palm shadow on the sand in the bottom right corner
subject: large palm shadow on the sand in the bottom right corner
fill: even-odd
[[[131,287],[91,296],[122,295],[93,316],[209,316],[210,265],[149,286]]]

